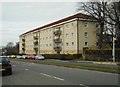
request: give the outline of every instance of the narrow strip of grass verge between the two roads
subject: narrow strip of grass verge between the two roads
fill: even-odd
[[[95,70],[95,71],[110,72],[110,73],[120,73],[120,68],[87,66],[87,65],[80,65],[80,64],[65,64],[65,63],[60,63],[60,62],[55,62],[55,61],[45,62],[45,61],[16,60],[16,59],[12,59],[12,61],[32,62],[32,63],[37,63],[37,64],[55,65],[55,66],[68,67],[68,68]]]

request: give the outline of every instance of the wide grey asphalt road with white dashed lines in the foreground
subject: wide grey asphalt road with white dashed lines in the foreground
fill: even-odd
[[[2,85],[118,85],[118,74],[12,61],[13,75]],[[1,78],[1,77],[0,77]]]

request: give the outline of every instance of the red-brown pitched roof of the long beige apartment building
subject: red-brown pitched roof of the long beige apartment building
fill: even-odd
[[[74,19],[74,18],[91,19],[91,18],[93,18],[93,17],[92,17],[92,16],[89,16],[89,15],[86,15],[86,14],[83,14],[83,13],[77,13],[77,14],[75,14],[75,15],[72,15],[72,16],[63,18],[63,19],[61,19],[61,20],[52,22],[52,23],[50,23],[50,24],[47,24],[47,25],[38,27],[38,28],[33,29],[33,30],[30,30],[30,31],[28,31],[28,32],[26,32],[26,33],[23,33],[23,34],[21,34],[21,35],[24,35],[24,34],[27,34],[27,33],[30,33],[30,32],[34,32],[34,31],[40,30],[40,29],[42,29],[42,28],[49,27],[49,26],[52,26],[52,25],[55,25],[55,24],[58,24],[58,23],[61,23],[61,22],[65,22],[65,21],[68,21],[68,20],[71,20],[71,19]],[[21,36],[21,35],[20,35],[20,36]]]

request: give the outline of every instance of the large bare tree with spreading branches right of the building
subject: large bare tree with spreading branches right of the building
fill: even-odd
[[[98,42],[102,48],[103,39],[109,40],[108,34],[120,37],[120,2],[80,2],[78,11],[85,12],[93,16],[100,25]],[[106,37],[104,37],[106,36]],[[109,44],[111,45],[111,44]]]

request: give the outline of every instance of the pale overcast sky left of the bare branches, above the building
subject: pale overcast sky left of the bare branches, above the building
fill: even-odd
[[[76,2],[2,2],[0,3],[0,46],[18,42],[19,35],[76,12]],[[1,19],[1,18],[0,18]]]

